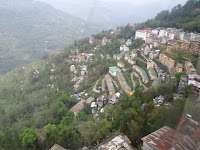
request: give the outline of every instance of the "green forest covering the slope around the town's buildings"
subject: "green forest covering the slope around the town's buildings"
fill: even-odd
[[[168,18],[167,20],[173,22],[176,20],[173,18],[178,17],[180,10],[183,12],[188,10],[193,14],[192,12],[198,8],[197,4],[198,1],[189,0],[185,6],[174,8],[174,16],[172,15],[171,19],[169,16],[173,10],[170,13],[161,12],[157,15],[157,19],[149,20],[144,24],[119,27],[115,34],[111,34],[111,30],[102,31],[93,35],[95,38],[93,44],[89,44],[89,38],[75,41],[65,50],[43,61],[17,68],[1,76],[0,149],[47,150],[57,143],[67,149],[76,150],[84,146],[92,147],[116,132],[127,135],[132,145],[140,149],[142,137],[165,125],[176,128],[185,110],[195,120],[200,121],[198,115],[200,107],[188,100],[188,95],[192,93],[191,86],[185,88],[184,98],[172,101],[172,95],[176,92],[183,73],[176,73],[169,82],[161,83],[146,91],[138,85],[134,95],[122,94],[118,104],[106,107],[105,111],[99,114],[100,119],[93,118],[91,108],[87,104],[76,115],[69,111],[78,103],[71,96],[74,93],[86,90],[89,96],[95,98],[99,96],[91,92],[92,87],[108,72],[109,66],[116,65],[116,61],[112,58],[102,58],[101,55],[112,57],[113,54],[119,53],[121,45],[119,39],[134,37],[135,31],[143,28],[144,25],[186,26],[187,23],[195,20],[195,17],[174,25],[167,24],[164,20]],[[166,14],[164,19],[163,14]],[[180,14],[180,17],[183,16]],[[190,26],[188,28],[193,31]],[[83,64],[88,66],[86,79],[75,91],[71,82],[73,75],[69,70],[72,64],[70,56],[75,55],[77,49],[80,53],[92,53],[103,37],[107,37],[112,42],[101,46],[95,52],[93,60],[75,64],[76,68],[80,68]],[[143,43],[142,40],[133,40],[130,49],[139,48]],[[163,95],[165,102],[170,102],[170,105],[156,107],[153,98],[160,95]]]

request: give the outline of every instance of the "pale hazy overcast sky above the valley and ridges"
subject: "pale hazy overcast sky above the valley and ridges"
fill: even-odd
[[[71,15],[94,22],[124,25],[146,21],[187,0],[39,0]]]

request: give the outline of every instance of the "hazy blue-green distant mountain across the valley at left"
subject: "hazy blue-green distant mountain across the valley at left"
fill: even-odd
[[[0,0],[0,74],[40,60],[103,27],[34,0]]]

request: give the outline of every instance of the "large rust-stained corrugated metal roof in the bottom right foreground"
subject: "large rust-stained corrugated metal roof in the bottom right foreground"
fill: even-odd
[[[167,126],[142,138],[143,150],[195,150],[197,144],[188,135]]]

